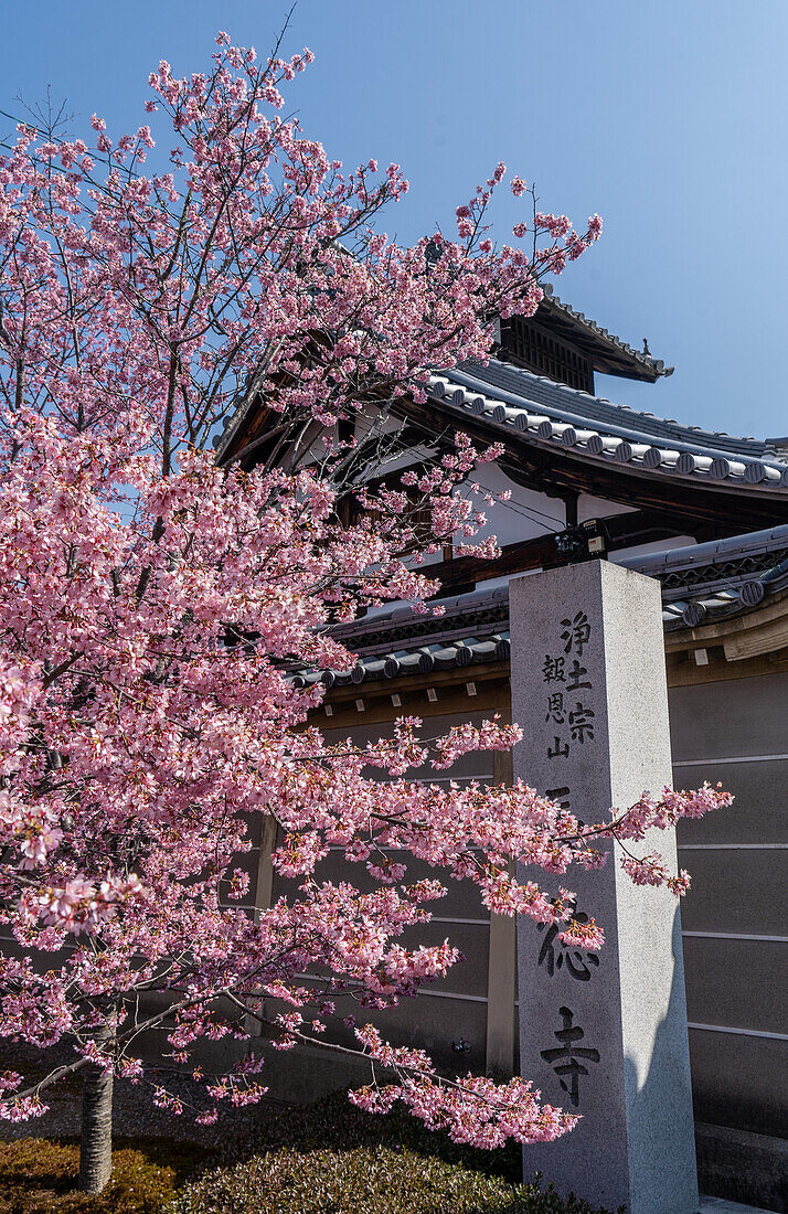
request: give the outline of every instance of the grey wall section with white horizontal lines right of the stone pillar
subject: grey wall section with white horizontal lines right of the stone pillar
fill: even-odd
[[[788,1133],[788,674],[674,687],[674,779],[730,810],[685,822],[679,861],[696,1117]]]

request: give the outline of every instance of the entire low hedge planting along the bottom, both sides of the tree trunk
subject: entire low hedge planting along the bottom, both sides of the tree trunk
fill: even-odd
[[[344,1091],[260,1108],[215,1150],[119,1139],[97,1197],[76,1191],[78,1174],[75,1141],[0,1142],[0,1214],[605,1214],[520,1184],[516,1146],[455,1146],[401,1108],[362,1113]]]

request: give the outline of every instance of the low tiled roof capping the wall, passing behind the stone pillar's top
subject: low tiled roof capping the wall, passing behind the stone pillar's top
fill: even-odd
[[[758,607],[788,589],[788,524],[619,562],[662,583],[665,632],[698,628]],[[444,600],[441,617],[398,607],[335,635],[358,653],[347,673],[300,670],[295,680],[329,687],[466,668],[509,657],[509,591],[475,590]]]

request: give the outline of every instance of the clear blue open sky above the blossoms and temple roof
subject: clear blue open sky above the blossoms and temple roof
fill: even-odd
[[[51,85],[115,134],[142,120],[159,58],[208,66],[212,35],[268,50],[287,0],[4,5],[0,108]],[[786,0],[299,0],[317,56],[288,102],[307,134],[412,182],[389,229],[415,239],[504,160],[544,209],[605,236],[559,280],[599,323],[675,364],[603,395],[731,433],[788,433]],[[7,127],[7,124],[6,124]],[[6,132],[0,125],[0,130]],[[499,211],[500,237],[515,219]]]

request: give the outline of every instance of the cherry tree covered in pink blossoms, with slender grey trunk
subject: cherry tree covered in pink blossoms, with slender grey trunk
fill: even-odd
[[[210,72],[178,78],[163,62],[149,78],[168,152],[147,124],[113,142],[93,115],[90,144],[21,121],[0,158],[0,1034],[61,1048],[44,1078],[0,1077],[0,1111],[33,1118],[81,1074],[89,1191],[110,1170],[113,1076],[188,1112],[148,1072],[141,1033],[166,1026],[174,1066],[255,1017],[271,1048],[339,1048],[322,1034],[348,1004],[392,1006],[458,960],[448,942],[399,943],[429,920],[442,873],[475,883],[495,913],[599,947],[571,895],[551,902],[509,875],[512,858],[593,868],[595,835],[640,840],[726,801],[665,792],[582,827],[522,783],[413,778],[427,761],[508,748],[515,727],[427,743],[403,719],[359,750],[308,722],[322,683],[305,690],[293,670],[352,665],[330,628],[364,607],[432,609],[418,561],[484,521],[457,490],[495,454],[458,437],[376,488],[342,422],[370,399],[419,398],[430,368],[483,358],[494,317],[531,314],[540,278],[601,228],[538,212],[515,177],[528,214],[517,243],[493,245],[499,165],[452,238],[398,246],[380,216],[408,188],[399,168],[344,172],[282,117],[282,89],[311,58],[277,47],[259,62],[220,34]],[[253,471],[220,467],[211,441],[251,399],[280,441]],[[414,521],[425,505],[431,535]],[[245,861],[263,823],[276,869],[299,885],[255,918]],[[372,892],[319,877],[329,847],[365,868]],[[408,857],[436,879],[410,879]],[[635,880],[686,885],[656,856],[628,864]],[[319,994],[306,971],[327,975]],[[574,1124],[527,1080],[447,1078],[370,1026],[356,1038],[376,1063],[352,1095],[364,1108],[399,1099],[488,1147]],[[198,1067],[198,1119],[257,1100],[266,1053],[217,1077]]]

